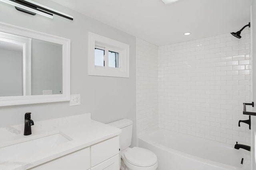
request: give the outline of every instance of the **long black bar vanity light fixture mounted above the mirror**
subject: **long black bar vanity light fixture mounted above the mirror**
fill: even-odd
[[[39,14],[42,16],[46,16],[48,18],[53,18],[53,14],[55,14],[67,18],[69,20],[73,20],[73,17],[68,14],[64,14],[47,6],[38,4],[32,0],[0,0],[0,2],[5,2],[6,4],[13,5],[15,6],[16,10],[31,15]]]

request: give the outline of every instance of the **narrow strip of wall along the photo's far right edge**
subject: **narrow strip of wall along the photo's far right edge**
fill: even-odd
[[[252,101],[256,102],[256,2],[252,1]],[[253,111],[256,112],[256,108],[253,108]],[[256,169],[256,116],[252,116],[252,170]]]

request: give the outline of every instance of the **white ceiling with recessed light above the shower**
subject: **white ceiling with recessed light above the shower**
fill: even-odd
[[[168,5],[161,0],[52,1],[158,46],[238,31],[250,21],[252,4],[252,0],[180,0]]]

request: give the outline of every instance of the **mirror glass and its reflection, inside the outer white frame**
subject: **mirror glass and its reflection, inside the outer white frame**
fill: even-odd
[[[62,94],[62,44],[0,32],[0,97]]]

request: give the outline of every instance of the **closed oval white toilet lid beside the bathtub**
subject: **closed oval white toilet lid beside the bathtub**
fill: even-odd
[[[156,164],[156,154],[150,150],[133,147],[124,153],[125,159],[136,166],[152,166]]]

